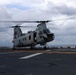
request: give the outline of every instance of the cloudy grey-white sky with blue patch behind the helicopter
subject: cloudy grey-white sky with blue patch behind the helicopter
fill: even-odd
[[[54,20],[76,17],[76,0],[0,0],[0,20]],[[0,23],[0,46],[12,46],[12,23]],[[37,24],[23,24],[34,25]],[[76,45],[76,19],[47,23],[55,34],[48,45]],[[35,28],[34,28],[35,29]],[[30,29],[22,28],[23,32]]]

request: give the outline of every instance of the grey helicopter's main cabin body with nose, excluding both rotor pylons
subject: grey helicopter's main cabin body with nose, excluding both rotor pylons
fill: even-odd
[[[35,46],[37,44],[45,45],[47,42],[54,40],[54,34],[49,30],[29,31],[13,40],[14,47]]]

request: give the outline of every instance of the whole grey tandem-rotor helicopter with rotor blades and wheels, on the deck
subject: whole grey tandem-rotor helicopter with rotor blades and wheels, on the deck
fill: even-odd
[[[76,19],[76,18],[65,18]],[[63,20],[63,19],[58,19]],[[14,22],[14,23],[38,23],[37,28],[34,31],[28,31],[27,33],[22,33],[20,25],[11,26],[14,28],[13,34],[13,49],[20,47],[30,47],[33,49],[37,44],[44,45],[46,49],[46,44],[54,40],[55,35],[52,33],[46,26],[46,23],[51,22],[52,20],[46,21],[0,21],[0,22]],[[26,26],[25,26],[26,27]]]

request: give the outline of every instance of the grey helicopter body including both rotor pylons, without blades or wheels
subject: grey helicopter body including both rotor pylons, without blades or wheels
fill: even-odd
[[[37,25],[36,30],[23,34],[20,26],[14,27],[13,47],[34,47],[37,44],[45,45],[54,40],[54,34],[46,27],[46,22]]]

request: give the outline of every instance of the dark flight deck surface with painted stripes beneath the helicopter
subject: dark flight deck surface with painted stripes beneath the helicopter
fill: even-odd
[[[76,75],[75,49],[0,52],[0,75]]]

